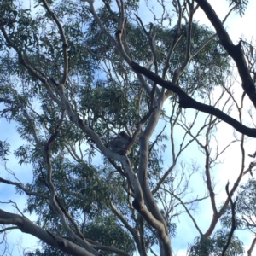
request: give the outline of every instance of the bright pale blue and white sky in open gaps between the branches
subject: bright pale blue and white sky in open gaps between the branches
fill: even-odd
[[[212,0],[209,1],[212,4],[213,9],[216,10],[218,16],[223,19],[224,16],[227,13],[228,9],[228,4],[223,3],[221,0]],[[154,1],[148,1],[148,6],[153,6]],[[150,13],[144,12],[145,10],[145,5],[144,3],[142,4],[140,8],[139,15],[141,19],[143,20],[143,23],[146,24],[147,22],[149,23],[152,20],[152,16],[150,16]],[[248,5],[248,8],[246,10],[245,15],[241,18],[238,15],[230,15],[229,20],[225,23],[225,27],[228,32],[230,32],[230,37],[231,39],[235,42],[238,43],[240,38],[247,38],[249,41],[250,38],[253,38],[254,31],[251,26],[251,24],[256,23],[256,15],[255,15],[255,9],[256,9],[256,3],[251,1]],[[199,12],[198,14],[195,15],[195,20],[198,20],[201,24],[206,24],[207,26],[211,26],[210,23],[207,21],[207,18],[202,12]],[[239,80],[235,79],[235,83],[240,83]],[[236,86],[237,91],[235,92],[235,97],[237,96],[237,99],[239,99],[239,96],[241,96],[241,89],[240,86]],[[218,97],[221,95],[221,90],[217,88],[214,91],[214,95],[212,95],[212,99],[215,101],[218,101]],[[238,100],[239,101],[239,100]],[[247,102],[244,104],[245,109],[249,109],[249,105]],[[0,105],[1,108],[1,105]],[[168,103],[165,104],[165,109],[166,112],[168,111]],[[191,112],[191,116],[195,113],[194,110],[187,110],[187,113]],[[237,112],[236,110],[231,111],[230,116],[237,117]],[[201,122],[204,121],[205,115],[204,114],[199,114],[198,119],[201,120]],[[193,121],[193,119],[191,119]],[[250,119],[246,119],[246,122],[250,122]],[[160,123],[157,126],[155,134],[157,134],[157,131],[160,131],[162,128],[163,123]],[[200,125],[199,125],[200,126]],[[11,145],[11,149],[14,150],[15,148],[18,147],[20,144],[20,137],[15,131],[15,123],[10,122],[8,123],[4,119],[0,119],[0,140],[7,141]],[[223,132],[225,131],[225,132]],[[230,127],[229,125],[226,125],[224,123],[220,124],[218,127],[217,131],[217,136],[218,136],[218,146],[219,148],[224,148],[226,143],[232,141],[232,137],[234,135],[234,129]],[[182,135],[181,135],[182,137]],[[219,137],[221,137],[219,139]],[[179,141],[180,138],[177,137],[177,142]],[[240,166],[241,166],[241,156],[240,156],[240,148],[238,143],[235,145],[230,145],[230,148],[222,155],[220,164],[215,166],[215,180],[214,183],[215,185],[215,191],[216,193],[219,191],[216,201],[220,203],[223,201],[223,198],[226,197],[226,193],[224,191],[224,186],[226,183],[229,181],[230,184],[234,183],[236,181],[236,177],[238,173],[240,172]],[[212,151],[214,151],[216,144],[212,143]],[[245,149],[246,149],[246,154],[252,154],[255,151],[255,143],[254,139],[250,139],[247,141],[245,144]],[[232,154],[232,157],[230,155]],[[168,159],[169,152],[168,149],[166,150],[166,153],[164,154],[164,157]],[[100,157],[99,157],[100,158]],[[191,163],[191,169],[193,168],[198,168],[200,169],[200,166],[204,165],[204,160],[201,161],[201,153],[198,151],[198,146],[193,143],[191,147],[189,148],[189,151],[185,156],[183,156],[183,160],[189,161]],[[246,163],[249,165],[251,159],[247,157]],[[195,166],[193,166],[193,163],[195,163]],[[166,166],[172,165],[171,162],[166,161]],[[237,168],[239,166],[239,168]],[[32,181],[32,175],[30,175],[30,166],[20,166],[18,164],[18,160],[16,159],[10,159],[9,161],[9,170],[14,170],[15,171],[15,176],[20,179],[22,183],[26,183],[29,181]],[[1,169],[0,169],[1,172]],[[26,173],[26,174],[25,174]],[[200,171],[199,171],[200,173]],[[9,177],[9,176],[8,176]],[[8,178],[6,177],[6,178]],[[191,177],[192,183],[197,183],[198,179],[201,178],[199,177]],[[245,182],[247,177],[243,182]],[[193,190],[193,193],[197,193],[196,189],[198,189],[198,193],[201,193],[201,187],[195,188]],[[26,204],[26,199],[22,199],[19,194],[15,193],[15,188],[10,188],[8,185],[5,185],[1,183],[0,185],[0,201],[8,201],[11,199],[11,201],[14,201],[17,203],[18,207],[20,209],[23,208],[23,206]],[[189,201],[189,197],[188,197]],[[15,208],[13,207],[14,203],[9,203],[3,205],[3,209],[9,212],[17,212]],[[196,206],[195,206],[196,207]],[[200,207],[195,211],[195,218],[201,219],[199,222],[201,230],[204,230],[204,224],[208,222],[208,215],[212,215],[212,209],[210,207],[210,202],[207,201],[207,203],[202,203]],[[35,220],[36,217],[32,216],[30,217],[31,220]],[[208,226],[208,223],[207,223]],[[252,237],[249,235],[247,232],[241,232],[241,236],[244,236],[244,242],[247,247],[250,246]],[[184,236],[184,234],[186,234]],[[172,248],[174,251],[177,252],[177,256],[184,256],[186,255],[187,248],[189,243],[191,244],[193,242],[193,239],[195,238],[195,226],[191,222],[191,219],[186,215],[183,214],[182,216],[179,217],[179,225],[177,228],[177,236],[172,239]],[[9,241],[9,247],[13,247],[13,255],[18,255],[18,251],[20,250],[20,253],[22,254],[23,248],[27,247],[32,247],[32,246],[37,246],[36,239],[30,235],[25,235],[19,232],[19,231],[11,231],[8,236],[8,241]],[[18,244],[18,246],[16,246]],[[0,252],[1,252],[1,245],[0,245]]]

